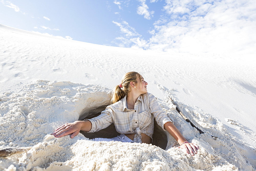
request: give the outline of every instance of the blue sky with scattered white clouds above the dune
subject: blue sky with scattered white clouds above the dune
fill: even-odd
[[[0,24],[93,44],[256,53],[254,0],[0,0]]]

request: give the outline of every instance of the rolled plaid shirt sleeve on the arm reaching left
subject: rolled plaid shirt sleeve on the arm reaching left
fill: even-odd
[[[85,119],[92,123],[92,128],[88,133],[97,132],[111,125],[113,123],[112,113],[112,109],[108,106],[99,116],[93,117],[92,119]]]

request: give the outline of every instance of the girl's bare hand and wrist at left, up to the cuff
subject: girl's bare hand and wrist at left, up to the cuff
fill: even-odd
[[[88,120],[86,121],[75,121],[72,123],[66,123],[60,127],[58,127],[52,135],[56,138],[63,137],[71,134],[71,138],[78,135],[80,130],[84,132],[89,132],[92,128],[92,123]]]

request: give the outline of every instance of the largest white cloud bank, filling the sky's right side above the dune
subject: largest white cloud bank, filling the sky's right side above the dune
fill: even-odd
[[[163,9],[166,14],[148,31],[151,38],[124,37],[129,43],[125,46],[168,52],[256,53],[253,0],[166,0]]]

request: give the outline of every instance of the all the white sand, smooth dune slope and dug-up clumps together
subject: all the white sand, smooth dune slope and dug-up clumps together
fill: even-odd
[[[255,55],[141,51],[3,25],[0,35],[0,149],[26,149],[0,157],[0,170],[255,170]],[[168,133],[165,150],[50,135],[110,104],[111,89],[128,71],[143,75],[176,127],[201,147],[198,154],[175,148]]]

